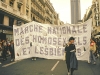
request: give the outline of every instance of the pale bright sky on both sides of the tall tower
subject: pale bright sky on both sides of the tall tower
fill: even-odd
[[[54,9],[59,14],[60,20],[64,23],[71,23],[70,19],[70,0],[50,0]],[[86,9],[91,6],[92,0],[80,0],[81,4],[81,18],[86,13]]]

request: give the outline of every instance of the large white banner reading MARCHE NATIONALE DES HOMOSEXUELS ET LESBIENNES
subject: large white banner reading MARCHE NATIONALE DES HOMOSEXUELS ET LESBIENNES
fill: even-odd
[[[63,44],[69,37],[75,37],[76,56],[78,60],[88,60],[91,37],[91,23],[50,25],[30,22],[13,26],[15,60],[30,57],[46,59],[63,59]]]

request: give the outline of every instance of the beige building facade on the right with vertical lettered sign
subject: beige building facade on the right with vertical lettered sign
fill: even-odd
[[[100,0],[92,0],[92,5],[88,7],[84,15],[83,22],[92,18],[92,36],[100,32]]]

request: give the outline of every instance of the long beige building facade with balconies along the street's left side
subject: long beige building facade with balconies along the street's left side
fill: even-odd
[[[13,25],[22,25],[31,21],[60,24],[59,15],[55,12],[50,0],[0,0],[0,24],[13,27]],[[6,36],[13,34],[11,29],[2,28],[0,32],[5,33]]]

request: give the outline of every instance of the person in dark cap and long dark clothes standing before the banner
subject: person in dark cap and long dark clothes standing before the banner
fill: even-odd
[[[74,44],[74,37],[69,38],[68,44],[66,44],[65,51],[66,51],[66,64],[67,64],[67,70],[68,75],[73,75],[74,70],[78,69],[78,61],[75,55],[76,47]]]

